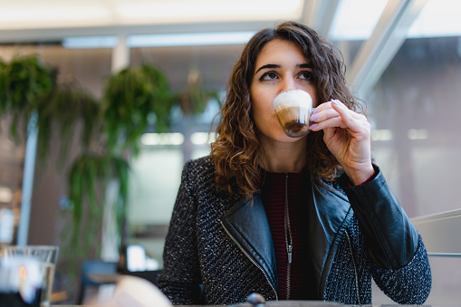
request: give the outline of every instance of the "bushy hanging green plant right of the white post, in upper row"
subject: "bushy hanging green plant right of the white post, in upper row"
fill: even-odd
[[[158,68],[144,64],[111,76],[104,92],[103,116],[110,149],[139,151],[138,141],[156,115],[158,131],[170,126],[172,99],[168,81]]]

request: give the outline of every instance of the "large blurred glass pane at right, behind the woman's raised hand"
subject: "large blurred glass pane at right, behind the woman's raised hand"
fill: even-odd
[[[408,216],[461,207],[456,185],[461,171],[461,32],[423,31],[439,17],[447,28],[459,28],[450,17],[459,5],[448,3],[455,1],[428,2],[412,36],[366,99],[373,155]],[[431,10],[435,4],[437,10]]]

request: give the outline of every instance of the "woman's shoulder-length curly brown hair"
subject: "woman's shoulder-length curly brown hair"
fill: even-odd
[[[304,57],[312,63],[317,99],[338,99],[351,110],[362,110],[359,102],[346,87],[346,68],[341,53],[311,28],[296,22],[285,22],[264,29],[245,45],[229,78],[225,104],[216,128],[217,139],[211,147],[216,165],[216,186],[229,193],[252,198],[262,184],[262,161],[259,131],[252,116],[250,86],[255,62],[266,43],[275,39],[295,43]],[[307,135],[305,152],[312,184],[325,187],[325,182],[338,177],[341,165],[327,149],[323,132]]]

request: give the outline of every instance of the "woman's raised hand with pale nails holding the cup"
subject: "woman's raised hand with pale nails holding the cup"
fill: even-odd
[[[367,118],[349,110],[341,101],[331,100],[313,112],[309,127],[323,130],[323,140],[354,185],[374,174],[371,165],[371,129]]]

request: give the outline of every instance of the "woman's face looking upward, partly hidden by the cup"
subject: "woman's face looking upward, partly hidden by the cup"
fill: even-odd
[[[312,96],[317,105],[310,62],[304,58],[296,44],[275,39],[266,43],[255,63],[255,73],[250,87],[250,98],[255,125],[262,138],[280,142],[295,142],[280,126],[273,109],[274,98],[286,90],[300,89]]]

